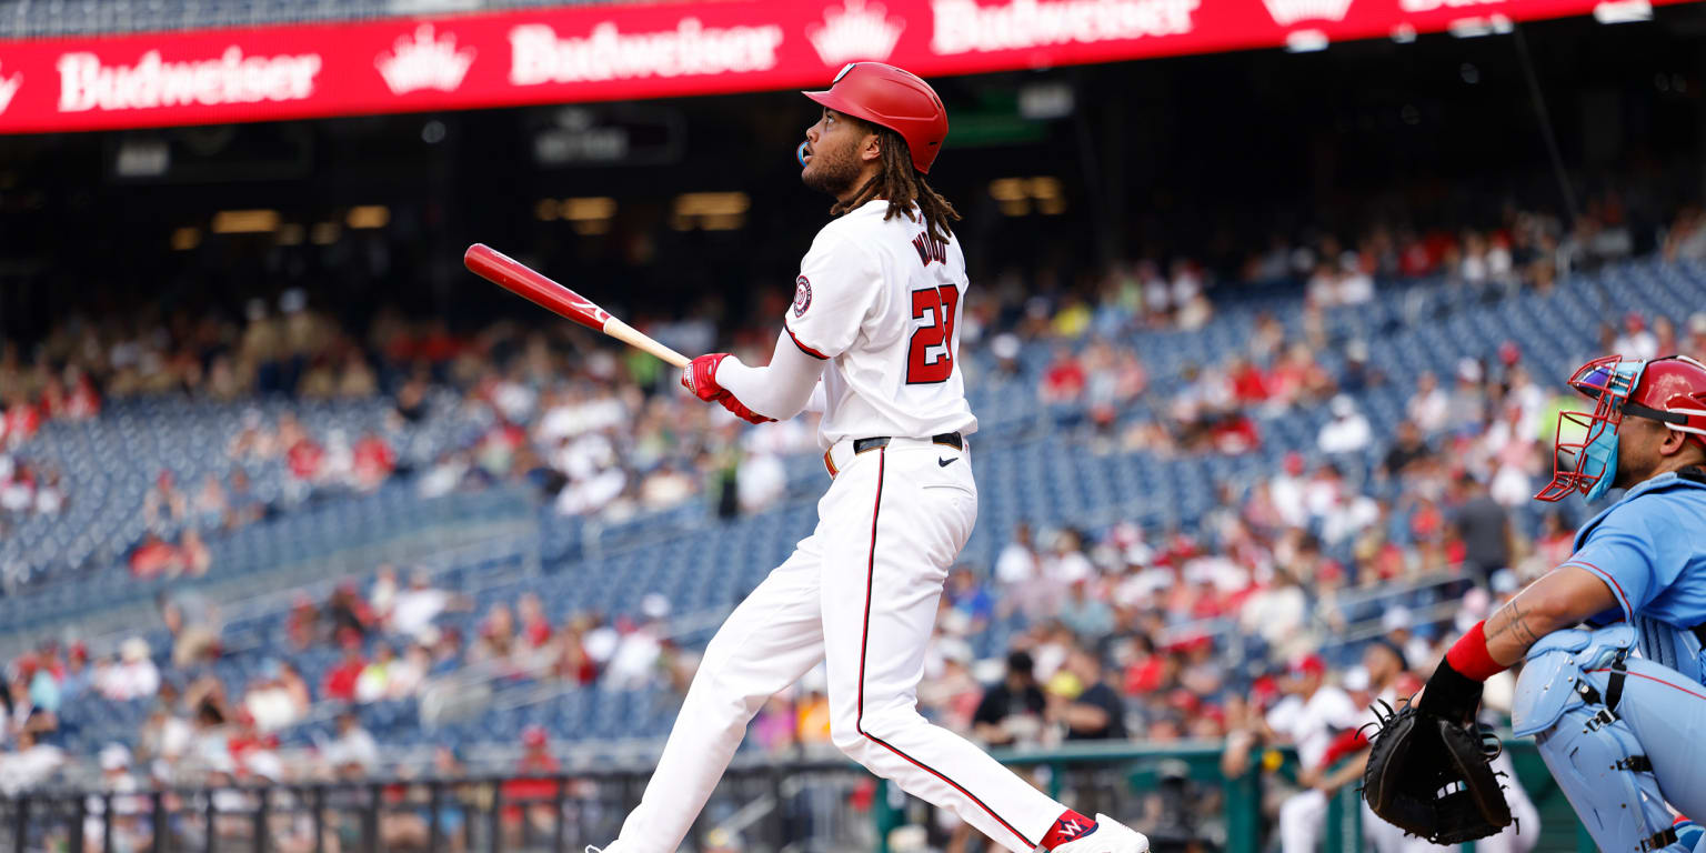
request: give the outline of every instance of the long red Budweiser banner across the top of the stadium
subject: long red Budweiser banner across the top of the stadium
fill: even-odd
[[[1633,0],[1639,3],[1639,0]],[[1653,0],[1670,2],[1670,0]],[[1597,0],[734,0],[0,43],[0,133],[822,85],[1500,29]]]

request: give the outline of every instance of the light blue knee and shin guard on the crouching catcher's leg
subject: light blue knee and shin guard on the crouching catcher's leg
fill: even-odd
[[[1626,624],[1558,631],[1529,650],[1512,725],[1534,735],[1558,786],[1605,853],[1650,853],[1677,843],[1653,764],[1616,713],[1616,672],[1634,645]]]

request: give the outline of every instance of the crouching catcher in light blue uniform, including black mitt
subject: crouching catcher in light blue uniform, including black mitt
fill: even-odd
[[[1481,684],[1525,660],[1515,732],[1535,737],[1599,848],[1706,853],[1706,833],[1675,815],[1706,815],[1706,365],[1607,357],[1570,384],[1593,411],[1559,416],[1552,481],[1535,498],[1628,491],[1382,720],[1363,795],[1435,843],[1510,824],[1488,766],[1496,740],[1474,713]]]

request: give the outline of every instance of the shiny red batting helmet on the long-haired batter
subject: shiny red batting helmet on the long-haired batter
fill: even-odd
[[[892,65],[855,61],[841,68],[827,90],[802,94],[836,113],[899,133],[913,152],[913,167],[925,174],[930,174],[942,140],[949,138],[949,111],[937,90],[916,73]]]

